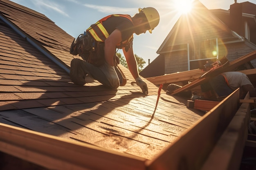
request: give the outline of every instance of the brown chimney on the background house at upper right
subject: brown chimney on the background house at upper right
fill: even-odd
[[[243,9],[243,4],[237,3],[235,0],[234,4],[230,5],[229,9],[229,17],[230,17],[230,29],[233,31],[236,31],[239,35],[245,36],[244,35],[244,24],[242,20],[242,9]]]

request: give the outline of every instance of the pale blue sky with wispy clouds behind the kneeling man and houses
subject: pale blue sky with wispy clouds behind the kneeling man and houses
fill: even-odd
[[[160,15],[159,25],[150,34],[148,31],[135,35],[134,53],[146,62],[152,62],[160,45],[180,16],[176,2],[183,0],[11,0],[46,15],[68,34],[77,37],[91,24],[112,13],[134,15],[138,8],[154,7]],[[256,4],[256,0],[249,1]],[[229,9],[234,0],[200,0],[208,9]],[[187,2],[182,2],[187,4]],[[119,50],[118,52],[121,52]],[[147,64],[146,64],[147,65]]]

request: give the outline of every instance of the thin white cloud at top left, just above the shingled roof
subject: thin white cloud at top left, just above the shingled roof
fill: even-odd
[[[39,7],[43,7],[43,8],[46,8],[46,9],[50,9],[50,10],[54,10],[58,13],[60,13],[61,15],[64,15],[64,16],[67,16],[69,17],[69,15],[67,13],[65,13],[63,7],[61,7],[61,5],[57,4],[57,3],[54,3],[52,1],[42,1],[42,0],[33,0],[32,1],[36,6],[39,6]]]

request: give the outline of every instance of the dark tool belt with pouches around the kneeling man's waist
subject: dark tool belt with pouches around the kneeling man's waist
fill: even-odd
[[[105,62],[104,42],[97,42],[89,33],[84,32],[73,40],[70,54],[79,55],[94,66],[101,66]]]

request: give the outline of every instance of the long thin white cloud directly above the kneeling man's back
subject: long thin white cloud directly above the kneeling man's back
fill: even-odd
[[[94,5],[94,4],[83,4],[85,7],[95,9],[102,13],[134,13],[137,11],[137,8],[122,8],[122,7],[111,7],[111,6],[101,6],[101,5]]]

